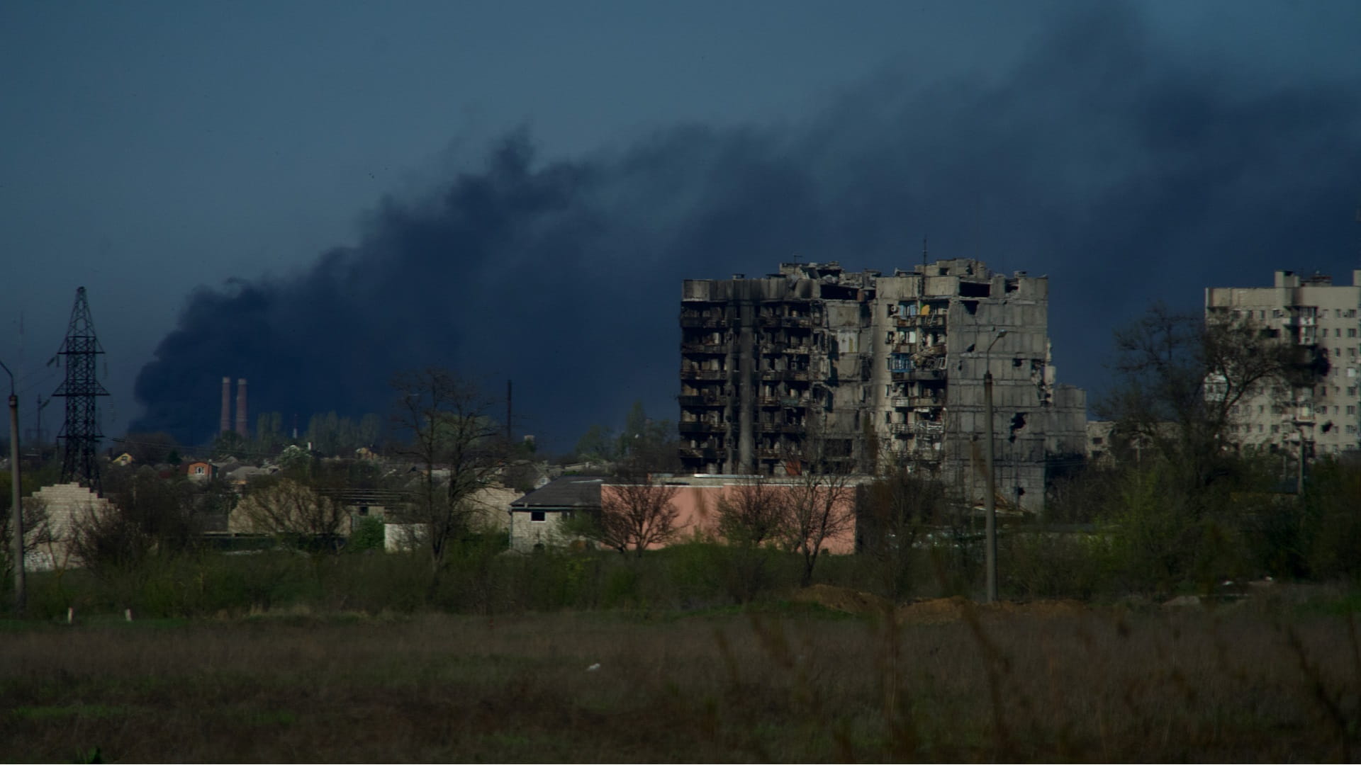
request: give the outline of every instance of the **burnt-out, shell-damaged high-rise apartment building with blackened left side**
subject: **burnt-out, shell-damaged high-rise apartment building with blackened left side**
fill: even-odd
[[[1056,382],[1048,279],[977,260],[847,272],[787,263],[690,279],[680,304],[680,457],[694,472],[938,475],[983,501],[984,372],[1000,506],[1040,509],[1086,448],[1086,395]]]

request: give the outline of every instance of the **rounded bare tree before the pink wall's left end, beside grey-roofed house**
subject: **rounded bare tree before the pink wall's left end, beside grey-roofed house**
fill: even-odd
[[[664,544],[679,531],[679,489],[659,483],[637,463],[622,464],[618,482],[602,487],[600,517],[595,536],[607,547],[642,557],[653,544]]]

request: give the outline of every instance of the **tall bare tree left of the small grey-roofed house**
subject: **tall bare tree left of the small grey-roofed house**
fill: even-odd
[[[502,429],[489,414],[494,402],[449,370],[427,368],[399,373],[395,423],[411,433],[401,451],[423,468],[421,490],[407,520],[421,531],[438,572],[449,543],[468,531],[474,495],[495,483],[505,461]],[[436,472],[448,471],[448,478]]]

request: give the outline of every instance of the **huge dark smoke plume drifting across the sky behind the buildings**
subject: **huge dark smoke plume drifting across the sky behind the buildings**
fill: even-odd
[[[1195,309],[1275,268],[1350,279],[1358,86],[1267,86],[1104,7],[1007,71],[889,67],[788,124],[574,158],[513,131],[304,272],[193,293],[132,430],[204,441],[223,376],[249,378],[255,412],[387,412],[395,370],[442,365],[513,378],[517,430],[563,449],[634,399],[675,417],[680,279],[911,268],[923,235],[932,259],[1048,274],[1060,380],[1100,388],[1111,329],[1149,301]]]

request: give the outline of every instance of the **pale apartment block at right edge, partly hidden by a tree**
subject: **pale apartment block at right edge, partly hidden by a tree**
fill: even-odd
[[[1237,406],[1232,436],[1245,446],[1286,448],[1294,452],[1304,438],[1315,456],[1337,455],[1358,444],[1361,395],[1361,270],[1351,284],[1331,276],[1300,276],[1277,271],[1271,287],[1209,287],[1206,317],[1252,321],[1285,342],[1309,347],[1327,358],[1328,372],[1308,388],[1263,385]]]

